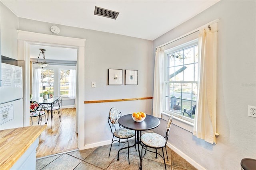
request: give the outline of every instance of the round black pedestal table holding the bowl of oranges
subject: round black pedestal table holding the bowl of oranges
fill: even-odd
[[[135,131],[135,143],[138,145],[138,153],[140,157],[140,170],[142,170],[142,155],[140,155],[140,136],[141,131],[146,131],[150,129],[154,129],[160,125],[160,120],[157,117],[152,115],[146,115],[144,121],[136,122],[132,119],[132,114],[121,116],[118,119],[119,125],[126,129],[131,129]],[[137,138],[137,139],[136,139]],[[135,144],[134,144],[135,145]],[[131,146],[132,147],[132,146]]]

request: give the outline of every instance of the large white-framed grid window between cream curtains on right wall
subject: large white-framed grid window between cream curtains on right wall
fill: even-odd
[[[198,39],[164,51],[164,112],[194,122],[198,84]],[[194,107],[195,108],[195,107]]]

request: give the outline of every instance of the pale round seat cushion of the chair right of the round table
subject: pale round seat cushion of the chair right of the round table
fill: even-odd
[[[144,133],[140,140],[145,145],[148,145],[149,147],[153,148],[161,148],[165,147],[165,138],[157,133]]]

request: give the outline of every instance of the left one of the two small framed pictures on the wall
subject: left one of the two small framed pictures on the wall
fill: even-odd
[[[123,70],[108,69],[108,85],[122,85]]]

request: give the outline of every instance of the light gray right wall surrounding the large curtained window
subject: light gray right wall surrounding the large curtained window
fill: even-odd
[[[169,142],[207,170],[238,170],[242,158],[256,158],[256,1],[220,1],[153,41],[158,45],[219,18],[217,59],[217,144],[172,126]]]

